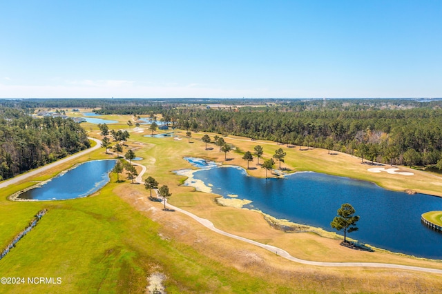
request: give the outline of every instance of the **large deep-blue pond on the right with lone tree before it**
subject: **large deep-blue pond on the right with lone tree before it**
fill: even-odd
[[[442,210],[440,197],[407,195],[369,182],[320,173],[260,179],[248,176],[243,168],[186,159],[203,168],[193,173],[194,179],[204,182],[222,197],[238,195],[238,199],[250,200],[245,208],[334,231],[330,222],[336,210],[341,204],[349,203],[361,217],[357,224],[359,231],[350,233],[349,237],[393,252],[442,259],[442,234],[421,224],[422,213]]]

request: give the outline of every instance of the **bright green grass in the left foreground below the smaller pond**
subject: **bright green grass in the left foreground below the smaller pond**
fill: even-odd
[[[287,291],[160,238],[159,224],[115,195],[118,185],[113,177],[99,195],[59,202],[3,197],[0,242],[5,246],[35,213],[43,208],[48,213],[0,260],[0,277],[61,277],[62,284],[1,285],[1,293],[142,293],[146,277],[157,268],[168,276],[168,293]]]

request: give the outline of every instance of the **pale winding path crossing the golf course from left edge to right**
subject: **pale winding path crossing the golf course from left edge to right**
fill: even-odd
[[[100,140],[95,139],[95,138],[91,138],[91,137],[89,139],[92,139],[93,141],[97,142],[97,145],[94,146],[93,148],[88,148],[84,151],[81,151],[80,153],[76,153],[76,154],[70,155],[69,157],[66,157],[64,159],[60,159],[58,161],[55,161],[52,164],[48,164],[47,166],[42,166],[41,168],[37,168],[35,170],[32,170],[29,173],[19,175],[18,177],[14,177],[12,179],[8,179],[7,181],[2,182],[0,184],[0,188],[4,188],[4,187],[9,186],[11,184],[16,184],[17,182],[20,182],[23,179],[26,179],[26,178],[31,177],[33,175],[37,175],[38,173],[41,173],[44,170],[48,170],[49,168],[52,168],[54,166],[58,166],[59,164],[69,161],[70,159],[75,159],[77,157],[80,157],[81,155],[85,155],[85,154],[90,153],[93,150],[97,150],[98,148],[101,147]],[[135,166],[140,166],[142,168],[140,175],[138,175],[135,178],[135,181],[140,184],[144,184],[142,181],[142,176],[144,175],[144,173],[146,173],[146,166],[143,166],[142,164],[137,164],[134,162],[132,164]],[[157,193],[157,196],[159,196],[157,189],[155,189],[155,193]],[[166,200],[166,203],[167,203],[167,200]],[[436,268],[423,268],[423,267],[419,267],[419,266],[404,266],[401,264],[383,264],[383,263],[375,263],[375,262],[312,262],[312,261],[305,260],[305,259],[299,259],[299,258],[291,256],[287,251],[282,250],[281,248],[278,248],[276,246],[267,245],[267,244],[262,244],[262,243],[253,241],[251,239],[247,239],[244,237],[240,237],[238,235],[233,235],[231,233],[227,233],[225,231],[220,230],[219,228],[215,228],[215,226],[213,225],[213,223],[211,221],[209,221],[209,219],[203,219],[201,217],[194,215],[193,213],[189,213],[189,211],[183,210],[183,209],[173,206],[171,204],[167,204],[167,205],[177,211],[180,211],[180,213],[184,213],[185,215],[188,215],[189,217],[195,219],[197,222],[199,222],[200,224],[202,224],[206,228],[211,229],[215,233],[219,233],[221,235],[231,237],[233,239],[238,239],[242,242],[247,242],[249,244],[259,246],[259,247],[264,248],[272,253],[275,253],[276,255],[284,257],[285,259],[289,259],[292,262],[298,262],[300,264],[307,264],[310,266],[331,266],[331,267],[358,266],[358,267],[365,267],[365,268],[394,268],[394,269],[402,269],[402,270],[407,270],[407,271],[420,271],[420,272],[425,272],[425,273],[442,274],[442,270],[436,269]]]

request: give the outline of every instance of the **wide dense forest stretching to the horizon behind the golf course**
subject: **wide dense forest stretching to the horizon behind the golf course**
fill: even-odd
[[[442,168],[441,99],[26,99],[0,100],[0,105],[161,115],[164,123],[186,130]]]

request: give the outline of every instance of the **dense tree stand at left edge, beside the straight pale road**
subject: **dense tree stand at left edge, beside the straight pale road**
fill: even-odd
[[[31,117],[25,110],[0,107],[0,180],[90,147],[72,119]]]

